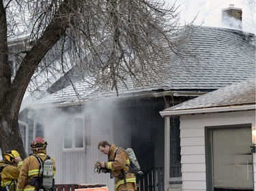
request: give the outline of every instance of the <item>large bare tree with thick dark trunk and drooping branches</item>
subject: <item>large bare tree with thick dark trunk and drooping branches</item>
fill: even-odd
[[[37,83],[37,69],[60,65],[65,73],[76,65],[81,79],[89,76],[118,93],[127,77],[140,86],[149,76],[159,77],[161,59],[156,58],[164,52],[184,56],[178,48],[187,34],[180,31],[175,5],[164,1],[0,0],[0,11],[0,147],[23,157],[18,114],[29,82]],[[30,45],[20,52],[24,56],[11,81],[8,39],[20,33],[27,33]]]

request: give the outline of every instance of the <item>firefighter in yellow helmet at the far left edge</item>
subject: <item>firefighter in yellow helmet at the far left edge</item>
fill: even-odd
[[[1,189],[4,191],[16,190],[18,175],[23,160],[16,150],[3,153],[3,160],[0,161]]]

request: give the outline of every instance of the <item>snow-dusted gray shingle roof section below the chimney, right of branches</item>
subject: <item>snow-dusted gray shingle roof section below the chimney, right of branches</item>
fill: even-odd
[[[190,39],[187,48],[194,50],[199,63],[192,69],[182,67],[180,76],[166,79],[165,89],[212,90],[255,75],[255,41],[247,41],[241,31],[200,27]]]

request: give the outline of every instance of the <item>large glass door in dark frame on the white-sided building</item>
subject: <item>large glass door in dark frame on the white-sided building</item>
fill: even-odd
[[[253,191],[251,127],[210,128],[208,131],[209,190]]]

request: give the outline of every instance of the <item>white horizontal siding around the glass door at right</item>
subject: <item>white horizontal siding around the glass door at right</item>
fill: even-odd
[[[248,123],[255,126],[255,111],[180,117],[182,191],[206,191],[205,126]],[[254,177],[256,177],[256,175]]]

